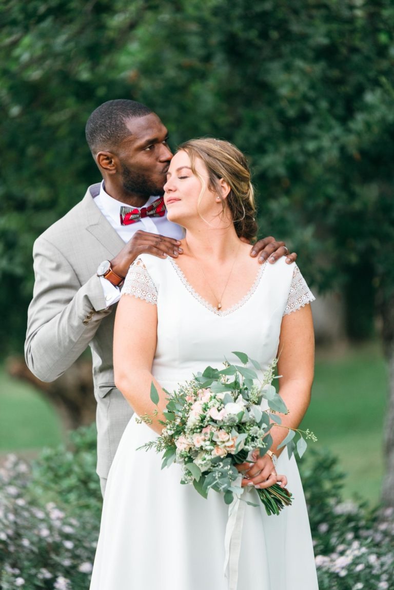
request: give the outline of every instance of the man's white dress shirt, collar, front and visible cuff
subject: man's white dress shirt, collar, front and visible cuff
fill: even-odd
[[[148,207],[157,198],[157,196],[149,196],[148,201],[146,201],[143,207]],[[105,192],[104,182],[101,183],[100,192],[95,197],[95,204],[125,243],[138,230],[148,231],[151,234],[165,235],[169,238],[174,238],[174,240],[181,240],[185,235],[183,227],[168,221],[167,214],[163,215],[163,217],[144,217],[133,224],[121,225],[121,207],[128,207],[128,205],[109,196]],[[136,209],[140,208],[136,207]],[[121,298],[121,289],[115,287],[106,278],[100,277],[100,281],[108,307],[119,301]]]

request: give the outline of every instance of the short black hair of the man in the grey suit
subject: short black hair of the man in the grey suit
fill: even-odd
[[[126,120],[145,117],[152,110],[135,100],[108,100],[90,115],[85,127],[86,141],[93,157],[100,150],[110,151],[130,135]]]

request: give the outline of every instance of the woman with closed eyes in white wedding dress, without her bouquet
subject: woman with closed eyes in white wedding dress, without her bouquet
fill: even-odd
[[[286,484],[291,506],[267,516],[246,506],[237,572],[223,575],[228,507],[214,491],[203,499],[181,485],[181,468],[161,470],[153,451],[137,450],[159,434],[165,392],[207,365],[222,368],[233,350],[265,370],[279,355],[279,393],[298,427],[310,402],[314,299],[295,264],[263,264],[256,274],[253,188],[245,157],[230,143],[196,139],[171,160],[168,219],[185,230],[184,254],[132,264],[115,322],[115,381],[135,414],[113,461],[103,504],[91,590],[317,590],[307,508],[294,457],[277,450],[287,431],[273,428],[271,449],[240,466],[242,486]],[[127,296],[124,296],[127,295]],[[150,399],[159,392],[159,414]],[[135,417],[148,414],[152,423]],[[253,492],[255,493],[255,492]],[[233,581],[231,580],[233,579]]]

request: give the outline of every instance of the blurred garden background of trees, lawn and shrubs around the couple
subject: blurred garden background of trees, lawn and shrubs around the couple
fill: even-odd
[[[84,125],[116,98],[157,112],[173,149],[208,135],[248,156],[260,235],[297,251],[317,296],[304,419],[317,454],[308,451],[302,469],[315,550],[326,559],[320,585],[390,588],[394,556],[370,531],[381,522],[374,507],[389,523],[394,506],[393,2],[3,0],[0,31],[0,502],[16,521],[22,496],[32,511],[20,516],[23,544],[20,522],[18,541],[8,521],[2,533],[0,504],[0,589],[88,585],[97,525],[79,543],[56,537],[48,552],[28,521],[43,510],[53,525],[55,504],[79,526],[99,519],[94,431],[77,431],[71,446],[67,434],[94,418],[89,353],[50,385],[21,355],[32,244],[99,181]],[[7,460],[10,452],[27,464]],[[353,520],[346,510],[335,517],[348,500]],[[354,539],[366,551],[338,565]]]

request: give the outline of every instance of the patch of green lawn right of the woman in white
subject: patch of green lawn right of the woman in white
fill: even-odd
[[[387,375],[377,345],[318,351],[312,401],[303,426],[317,434],[347,474],[346,496],[379,499]],[[313,443],[311,443],[312,445]]]

